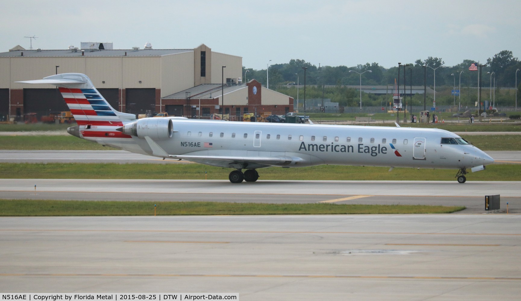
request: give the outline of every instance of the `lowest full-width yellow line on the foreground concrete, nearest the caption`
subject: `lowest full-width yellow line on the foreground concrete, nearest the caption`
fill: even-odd
[[[0,277],[234,277],[234,278],[358,278],[358,279],[402,279],[402,280],[511,280],[521,277],[450,277],[450,276],[385,276],[385,275],[245,275],[245,274],[55,274],[55,273],[0,273]]]

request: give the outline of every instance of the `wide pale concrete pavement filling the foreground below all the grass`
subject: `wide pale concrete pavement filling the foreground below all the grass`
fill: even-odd
[[[518,300],[520,215],[0,218],[2,292]]]

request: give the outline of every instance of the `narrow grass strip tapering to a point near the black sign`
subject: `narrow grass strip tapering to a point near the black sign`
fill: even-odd
[[[0,216],[448,214],[462,206],[0,200]]]

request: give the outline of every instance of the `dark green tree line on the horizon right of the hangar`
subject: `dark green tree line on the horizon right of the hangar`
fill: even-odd
[[[478,72],[469,70],[470,65],[482,65],[481,70],[481,87],[488,89],[490,85],[497,88],[513,88],[515,86],[516,70],[521,69],[521,62],[514,57],[512,51],[502,51],[487,59],[487,62],[479,62],[475,60],[465,59],[456,66],[444,66],[442,58],[427,57],[426,59],[417,59],[414,62],[402,62],[400,68],[398,64],[395,67],[386,69],[379,66],[377,62],[365,65],[357,65],[353,67],[346,66],[319,66],[311,64],[301,59],[291,59],[286,64],[274,64],[269,66],[269,89],[293,96],[296,99],[294,89],[290,89],[292,84],[304,84],[304,69],[306,68],[306,84],[315,85],[315,87],[308,87],[307,98],[321,98],[331,99],[332,102],[338,102],[343,106],[352,106],[359,102],[359,94],[355,89],[348,89],[346,85],[359,85],[360,77],[362,77],[362,85],[389,85],[390,90],[394,89],[394,84],[403,87],[404,81],[406,86],[423,86],[426,78],[426,85],[433,87],[434,82],[434,68],[436,68],[436,91],[437,103],[452,104],[453,96],[450,96],[450,90],[460,85],[462,98],[467,103],[474,103],[477,101],[477,95],[469,95],[468,89],[470,87],[478,86]],[[426,66],[426,67],[425,67]],[[440,67],[443,66],[443,67]],[[400,70],[399,70],[400,69]],[[350,70],[362,73],[367,70],[362,76]],[[245,80],[256,79],[257,81],[266,83],[266,69],[255,70],[252,68],[244,68]],[[247,71],[247,72],[246,72]],[[400,76],[398,72],[400,71]],[[463,71],[463,72],[462,72]],[[493,72],[493,73],[492,73]],[[405,74],[404,74],[405,73]],[[521,81],[521,72],[519,72]],[[329,86],[322,89],[322,86]],[[330,87],[334,86],[334,87]],[[465,95],[467,89],[467,95]],[[439,91],[445,91],[441,95]],[[447,92],[448,91],[448,95]],[[521,93],[521,90],[519,90]],[[301,92],[302,93],[302,92]],[[390,92],[392,93],[392,92]],[[498,93],[498,92],[497,92]],[[512,91],[514,93],[514,91]],[[392,95],[392,94],[391,94]],[[497,102],[502,102],[505,106],[514,105],[514,96],[510,92],[499,94],[496,96]],[[302,95],[300,98],[302,99]],[[438,98],[440,97],[440,98]],[[389,98],[389,97],[387,97]],[[385,96],[377,96],[373,94],[364,94],[363,103],[365,105],[380,106],[389,101]],[[421,99],[420,99],[421,98]],[[489,98],[489,97],[487,97]],[[413,102],[421,102],[423,104],[423,95],[415,95]]]

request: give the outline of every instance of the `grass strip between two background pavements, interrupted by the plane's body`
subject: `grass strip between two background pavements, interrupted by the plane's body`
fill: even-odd
[[[464,132],[463,128],[461,132]],[[519,151],[521,135],[462,135],[482,151]],[[0,149],[4,150],[114,150],[75,136],[0,136]]]

